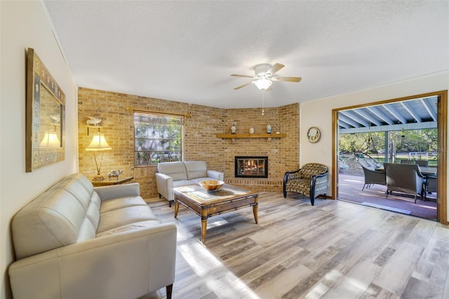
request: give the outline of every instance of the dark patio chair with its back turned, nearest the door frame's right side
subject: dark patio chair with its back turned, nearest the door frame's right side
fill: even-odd
[[[420,194],[421,200],[424,199],[425,177],[417,164],[393,164],[384,163],[387,178],[387,194],[392,191],[413,194]]]

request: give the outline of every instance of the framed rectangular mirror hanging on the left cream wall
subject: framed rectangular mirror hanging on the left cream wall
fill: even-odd
[[[65,93],[33,48],[27,48],[25,171],[65,159]]]

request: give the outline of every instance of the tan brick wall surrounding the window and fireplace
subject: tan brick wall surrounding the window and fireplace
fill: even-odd
[[[299,168],[299,105],[262,109],[220,109],[182,102],[145,98],[109,91],[79,88],[79,171],[88,176],[96,173],[92,152],[86,152],[95,129],[88,128],[88,117],[102,119],[100,133],[112,150],[104,152],[102,175],[123,169],[122,176],[133,176],[140,183],[142,197],[157,197],[155,166],[134,167],[133,110],[150,110],[189,114],[185,119],[185,160],[205,160],[208,168],[225,173],[225,181],[257,191],[281,191],[283,173]],[[217,133],[230,133],[236,124],[237,133],[266,132],[267,124],[287,138],[220,139]],[[234,178],[234,156],[268,156],[268,178]]]

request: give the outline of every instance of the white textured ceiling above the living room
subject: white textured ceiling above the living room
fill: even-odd
[[[223,108],[286,65],[266,107],[449,69],[448,1],[43,1],[80,87]],[[39,49],[36,49],[39,53]]]

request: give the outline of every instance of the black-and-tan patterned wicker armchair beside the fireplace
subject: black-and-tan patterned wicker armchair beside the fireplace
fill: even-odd
[[[297,192],[310,197],[311,205],[320,194],[326,199],[328,190],[328,166],[319,163],[304,164],[297,171],[288,171],[283,176],[283,197],[287,192]]]

